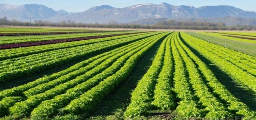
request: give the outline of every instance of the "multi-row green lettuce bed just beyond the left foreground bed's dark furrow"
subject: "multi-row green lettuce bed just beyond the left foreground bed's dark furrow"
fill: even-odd
[[[135,39],[134,37],[130,37],[120,40],[106,41],[103,43],[95,43],[84,46],[60,49],[41,54],[34,54],[20,57],[23,59],[19,60],[4,60],[2,61],[2,64],[0,66],[0,81],[4,82],[25,75],[31,75],[34,72],[43,71],[46,68],[54,67],[71,60],[76,60],[88,55],[105,51],[107,49],[112,49],[114,47],[138,41],[145,37],[148,37],[148,35],[135,37]]]

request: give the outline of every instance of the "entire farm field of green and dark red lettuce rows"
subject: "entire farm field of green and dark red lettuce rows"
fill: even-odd
[[[256,120],[256,33],[0,35],[0,120]]]

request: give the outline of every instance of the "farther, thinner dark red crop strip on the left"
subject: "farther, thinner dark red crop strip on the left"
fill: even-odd
[[[104,33],[118,31],[80,31],[80,32],[43,32],[43,33],[2,33],[0,36],[22,36],[22,35],[53,35],[53,34],[73,34],[73,33]]]

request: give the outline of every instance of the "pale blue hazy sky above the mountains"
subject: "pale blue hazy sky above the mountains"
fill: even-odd
[[[58,11],[64,9],[68,12],[83,12],[91,7],[99,5],[110,5],[113,7],[127,7],[142,3],[162,2],[171,5],[191,5],[195,7],[205,5],[231,5],[245,11],[256,11],[256,0],[0,0],[1,3],[23,5],[23,4],[43,4]]]

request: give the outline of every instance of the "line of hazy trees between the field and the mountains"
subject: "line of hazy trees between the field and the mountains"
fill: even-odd
[[[20,22],[17,20],[8,20],[6,17],[0,18],[0,25],[15,26],[53,26],[53,27],[95,27],[95,28],[134,28],[134,29],[195,29],[195,30],[252,30],[256,25],[237,25],[226,26],[225,23],[210,22],[183,22],[175,20],[159,21],[153,25],[139,25],[128,23],[117,23],[109,21],[108,23],[76,23],[75,21],[63,20],[60,22],[34,20],[30,22]]]

